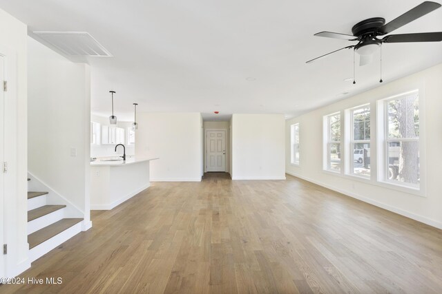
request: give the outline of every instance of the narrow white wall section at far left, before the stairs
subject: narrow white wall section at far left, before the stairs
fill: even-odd
[[[18,275],[30,266],[28,260],[27,216],[27,27],[0,10],[0,53],[6,55],[8,92],[5,101],[5,198],[1,209],[4,219],[6,276]],[[4,216],[3,216],[4,213]]]

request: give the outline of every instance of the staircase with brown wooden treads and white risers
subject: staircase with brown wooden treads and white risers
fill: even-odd
[[[46,191],[28,191],[28,244],[31,262],[81,231],[83,218],[65,218],[66,205],[47,204],[47,198]]]

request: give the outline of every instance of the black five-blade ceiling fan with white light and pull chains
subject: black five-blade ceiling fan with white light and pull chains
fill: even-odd
[[[356,45],[349,45],[344,48],[340,48],[333,52],[311,59],[306,63],[312,63],[318,59],[321,59],[329,54],[338,52],[344,49],[353,48],[354,52],[357,52],[361,58],[359,60],[359,65],[365,65],[372,61],[373,53],[381,47],[383,43],[404,43],[404,42],[438,42],[442,41],[442,32],[421,32],[417,34],[390,34],[394,30],[401,28],[401,26],[406,25],[419,17],[423,17],[425,14],[440,8],[441,4],[425,1],[412,10],[409,10],[397,17],[396,19],[390,21],[390,23],[385,23],[385,19],[382,17],[374,17],[371,19],[365,19],[356,23],[352,28],[353,35],[350,34],[340,34],[336,32],[318,32],[314,36],[325,36],[327,38],[343,39],[348,41],[357,41]],[[384,36],[382,39],[378,39],[378,36],[383,36],[385,34],[390,34]],[[381,78],[382,82],[382,78]],[[355,83],[355,82],[354,82]]]

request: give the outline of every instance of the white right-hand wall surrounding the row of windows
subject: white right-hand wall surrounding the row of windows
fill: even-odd
[[[442,146],[442,65],[392,81],[363,94],[347,98],[338,103],[309,112],[286,122],[286,168],[287,173],[318,185],[334,189],[348,196],[361,199],[376,206],[425,222],[442,229],[441,194],[441,146]],[[381,187],[369,182],[355,180],[350,176],[336,176],[323,171],[323,116],[342,109],[365,103],[376,109],[378,99],[401,94],[419,88],[419,99],[425,107],[421,109],[421,127],[424,128],[425,148],[421,150],[421,174],[426,174],[426,197]],[[423,115],[424,113],[424,115]],[[374,116],[373,116],[374,117]],[[290,125],[300,126],[300,167],[290,164]],[[376,132],[376,119],[372,119],[372,146]],[[421,139],[422,136],[421,136]],[[372,150],[376,154],[376,150]],[[426,168],[425,168],[426,167]],[[421,181],[422,182],[422,181]],[[423,185],[423,184],[421,184]]]

